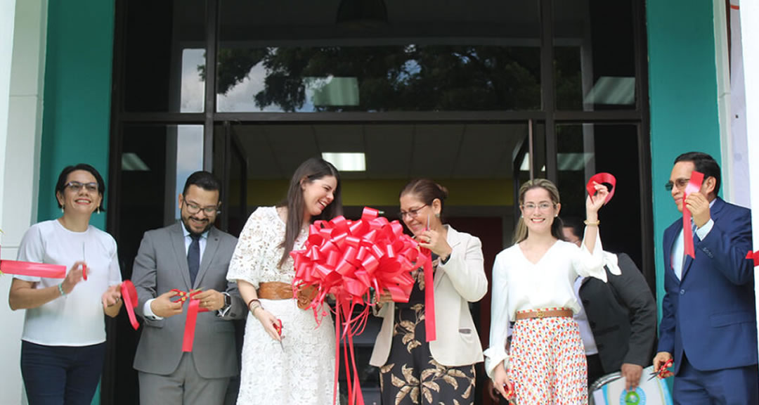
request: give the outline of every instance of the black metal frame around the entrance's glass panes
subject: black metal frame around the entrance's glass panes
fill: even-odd
[[[291,124],[294,122],[307,123],[418,123],[418,122],[488,122],[543,123],[546,137],[546,176],[556,181],[558,168],[556,162],[557,140],[556,125],[582,123],[628,123],[638,126],[638,156],[640,176],[640,207],[641,207],[641,245],[642,271],[648,280],[651,290],[656,292],[656,273],[653,252],[653,206],[651,185],[651,155],[650,155],[650,119],[648,106],[648,70],[647,70],[647,39],[645,25],[644,0],[633,0],[632,15],[634,19],[635,39],[635,109],[616,111],[557,111],[555,89],[553,83],[553,0],[539,0],[541,19],[540,38],[540,86],[542,109],[536,111],[449,111],[449,112],[216,112],[216,48],[219,33],[219,3],[221,0],[206,2],[206,78],[205,81],[205,112],[126,112],[124,111],[124,45],[128,38],[124,35],[126,28],[125,16],[128,10],[128,0],[115,2],[115,39],[112,81],[112,108],[110,125],[109,169],[109,201],[107,228],[110,233],[118,234],[118,217],[120,203],[118,185],[121,184],[121,138],[124,124],[146,125],[203,125],[203,168],[213,169],[213,136],[214,131],[221,125],[225,131],[227,153],[234,153],[230,145],[234,138],[231,136],[229,122],[256,122],[260,124]],[[527,145],[524,145],[526,147]],[[228,172],[228,163],[225,172]],[[228,179],[224,179],[228,182]],[[228,193],[227,193],[228,194]],[[228,223],[227,214],[222,210],[221,223]],[[111,338],[109,347],[115,344],[115,322],[109,321],[107,328]],[[113,350],[108,356],[113,356]],[[110,357],[109,357],[110,359]],[[112,359],[111,359],[112,360]],[[113,375],[109,368],[103,374],[102,403],[114,402]]]

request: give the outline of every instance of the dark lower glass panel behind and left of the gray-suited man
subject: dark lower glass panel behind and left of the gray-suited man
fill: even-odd
[[[121,171],[118,190],[118,217],[115,218],[118,257],[124,280],[131,278],[132,264],[143,233],[175,220],[177,196],[189,172],[202,160],[202,125],[125,125],[121,136]],[[118,147],[118,145],[116,146]],[[186,173],[186,174],[185,174]],[[124,317],[118,317],[118,364],[132,364],[137,349],[135,334]],[[123,333],[121,333],[123,332]],[[115,392],[121,403],[137,403],[134,387],[137,372],[131,367],[116,367]]]

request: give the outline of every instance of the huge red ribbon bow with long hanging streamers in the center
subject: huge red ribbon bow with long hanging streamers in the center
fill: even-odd
[[[303,250],[293,251],[290,255],[295,263],[293,296],[305,286],[317,290],[309,305],[317,324],[327,315],[326,312],[320,313],[327,294],[335,296],[335,339],[339,343],[342,337],[344,343],[345,369],[349,376],[348,403],[362,405],[364,399],[358,384],[353,336],[361,334],[366,326],[372,305],[371,289],[377,294],[388,290],[393,301],[408,302],[414,286],[412,270],[424,267],[425,283],[433,285],[430,252],[405,235],[397,220],[389,222],[379,217],[379,211],[364,207],[361,220],[351,221],[341,216],[329,222],[313,223]],[[425,323],[427,340],[430,341],[435,338],[433,288],[427,289],[426,294]],[[355,305],[364,305],[358,315],[353,315]],[[334,400],[339,355],[339,344],[336,344]],[[353,378],[350,377],[351,365]]]

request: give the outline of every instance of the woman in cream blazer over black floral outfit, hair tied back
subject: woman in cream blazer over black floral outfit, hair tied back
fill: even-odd
[[[433,258],[433,286],[414,271],[408,302],[379,296],[382,329],[370,364],[379,367],[382,403],[474,403],[474,364],[483,361],[469,303],[487,293],[480,239],[442,222],[448,190],[415,179],[401,191],[399,216]],[[435,297],[436,340],[427,342],[425,291]]]

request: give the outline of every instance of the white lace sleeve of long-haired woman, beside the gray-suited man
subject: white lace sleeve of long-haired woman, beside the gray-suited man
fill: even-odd
[[[266,236],[266,226],[272,226],[272,223],[266,220],[266,216],[263,215],[263,208],[259,208],[250,214],[240,233],[240,239],[235,246],[231,261],[229,261],[228,281],[244,280],[258,289],[263,271],[262,259],[265,253],[263,252],[263,242]]]

